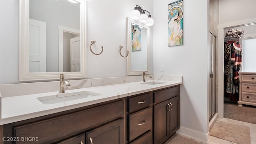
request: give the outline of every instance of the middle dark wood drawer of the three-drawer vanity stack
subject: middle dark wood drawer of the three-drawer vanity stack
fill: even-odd
[[[129,115],[128,141],[152,129],[152,107]]]

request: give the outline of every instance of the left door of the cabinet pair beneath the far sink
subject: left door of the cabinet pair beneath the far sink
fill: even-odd
[[[162,144],[169,138],[169,101],[154,106],[154,144]]]

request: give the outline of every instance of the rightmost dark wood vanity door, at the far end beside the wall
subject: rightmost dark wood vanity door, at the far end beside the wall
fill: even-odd
[[[180,128],[180,96],[176,96],[169,100],[171,110],[169,112],[169,131],[172,136]]]

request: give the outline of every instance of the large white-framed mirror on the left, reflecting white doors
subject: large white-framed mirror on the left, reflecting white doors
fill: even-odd
[[[19,80],[86,78],[86,0],[19,0]]]

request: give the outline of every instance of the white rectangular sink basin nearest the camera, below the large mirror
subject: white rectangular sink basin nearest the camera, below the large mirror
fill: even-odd
[[[72,93],[62,93],[51,96],[42,96],[37,99],[43,104],[56,104],[59,102],[67,102],[71,100],[78,100],[82,98],[89,98],[92,96],[99,96],[101,94],[90,92],[90,91],[82,91],[82,92],[72,92]]]

